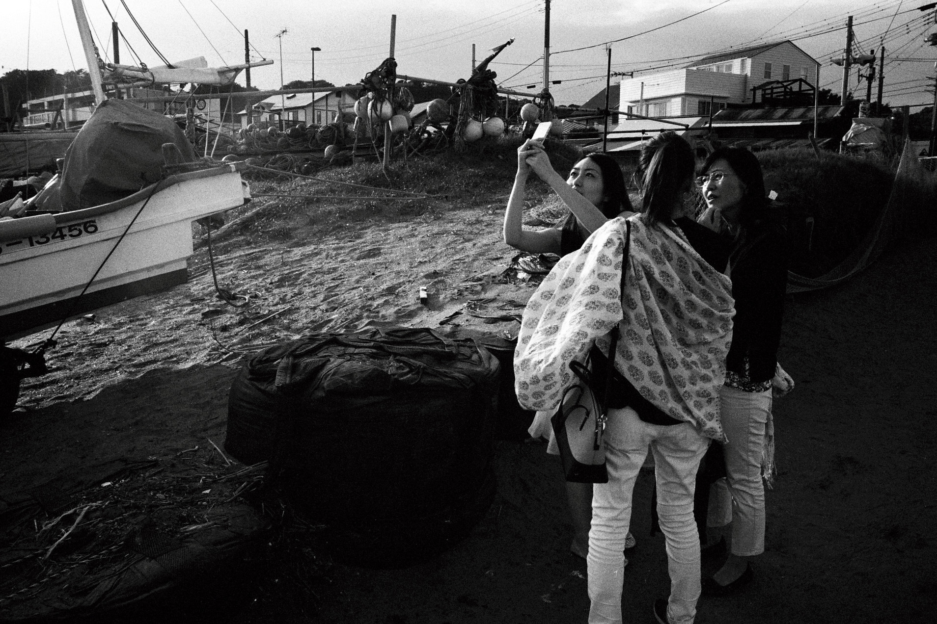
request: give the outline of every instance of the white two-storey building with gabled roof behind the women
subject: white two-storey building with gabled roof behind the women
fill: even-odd
[[[816,76],[817,62],[791,41],[781,41],[623,79],[619,102],[621,110],[648,117],[707,116],[728,104],[751,104],[752,89],[766,82],[803,79],[814,85]]]

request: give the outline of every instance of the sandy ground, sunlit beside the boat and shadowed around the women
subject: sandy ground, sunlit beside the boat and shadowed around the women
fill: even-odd
[[[4,489],[114,457],[220,445],[243,355],[305,331],[439,327],[463,311],[452,320],[515,333],[513,321],[464,312],[469,299],[516,312],[533,292],[497,283],[513,256],[499,234],[505,199],[348,223],[315,210],[260,219],[216,245],[218,281],[249,296],[246,308],[215,297],[202,248],[188,283],[68,323],[52,373],[23,384],[30,411],[0,423]],[[701,600],[698,622],[935,621],[935,268],[933,239],[905,242],[851,283],[789,298],[781,362],[797,386],[775,406],[780,475],[767,495],[766,553],[751,586]],[[393,571],[329,564],[302,591],[277,588],[289,573],[268,568],[229,621],[586,621],[585,563],[568,552],[558,462],[544,451],[498,443],[496,501],[438,559]],[[626,621],[653,621],[653,600],[668,593],[662,536],[648,535],[650,479],[642,473],[635,491]]]

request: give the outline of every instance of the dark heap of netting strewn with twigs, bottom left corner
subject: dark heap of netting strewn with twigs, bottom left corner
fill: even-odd
[[[169,621],[184,603],[221,608],[269,535],[243,498],[264,467],[206,445],[0,494],[0,620]]]

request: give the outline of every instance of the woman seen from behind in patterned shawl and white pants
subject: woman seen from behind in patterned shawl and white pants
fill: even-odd
[[[622,549],[648,451],[671,580],[654,616],[661,624],[692,623],[700,595],[693,486],[709,442],[724,439],[718,394],[732,340],[731,283],[677,225],[693,193],[692,148],[668,132],[644,151],[642,212],[602,225],[558,262],[530,297],[514,359],[521,404],[555,409],[571,384],[570,362],[584,361],[593,344],[608,352],[610,330],[620,331],[612,356],[618,383],[602,434],[608,482],[593,486],[593,624],[622,621]],[[630,583],[624,590],[640,591]]]

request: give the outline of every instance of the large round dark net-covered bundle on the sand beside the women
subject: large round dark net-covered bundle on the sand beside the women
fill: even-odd
[[[271,462],[334,557],[399,566],[468,534],[494,496],[498,360],[426,328],[311,334],[231,385],[225,448]]]

